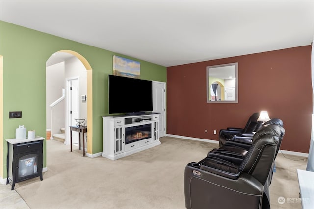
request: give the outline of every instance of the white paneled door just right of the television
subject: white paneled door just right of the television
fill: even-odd
[[[160,113],[159,137],[166,134],[166,83],[153,81],[153,112]]]

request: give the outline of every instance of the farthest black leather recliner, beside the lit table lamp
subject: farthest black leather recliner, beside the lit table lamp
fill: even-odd
[[[244,128],[227,128],[221,129],[219,131],[219,147],[222,147],[225,144],[225,141],[228,139],[232,139],[234,136],[241,135],[242,137],[248,136],[253,137],[252,132],[256,132],[262,126],[262,122],[257,121],[260,113],[253,113],[252,116],[249,117]]]

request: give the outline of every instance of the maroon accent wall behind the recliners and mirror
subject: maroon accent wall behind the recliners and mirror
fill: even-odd
[[[239,102],[207,103],[206,67],[233,62],[238,62]],[[243,128],[261,110],[284,122],[280,149],[309,152],[310,45],[167,68],[167,134],[218,140],[220,129]]]

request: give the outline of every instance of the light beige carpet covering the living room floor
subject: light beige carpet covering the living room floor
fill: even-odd
[[[161,145],[116,161],[83,157],[81,150],[70,152],[69,146],[49,140],[44,180],[20,182],[15,189],[31,209],[184,209],[186,164],[203,159],[218,144],[160,140]],[[277,199],[299,197],[296,169],[305,169],[306,161],[279,153],[276,163],[272,208],[301,208],[300,203],[281,205]]]

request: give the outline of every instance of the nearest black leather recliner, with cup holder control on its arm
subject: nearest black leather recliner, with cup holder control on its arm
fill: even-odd
[[[269,173],[284,129],[265,125],[240,163],[206,157],[184,173],[187,209],[269,209]]]

